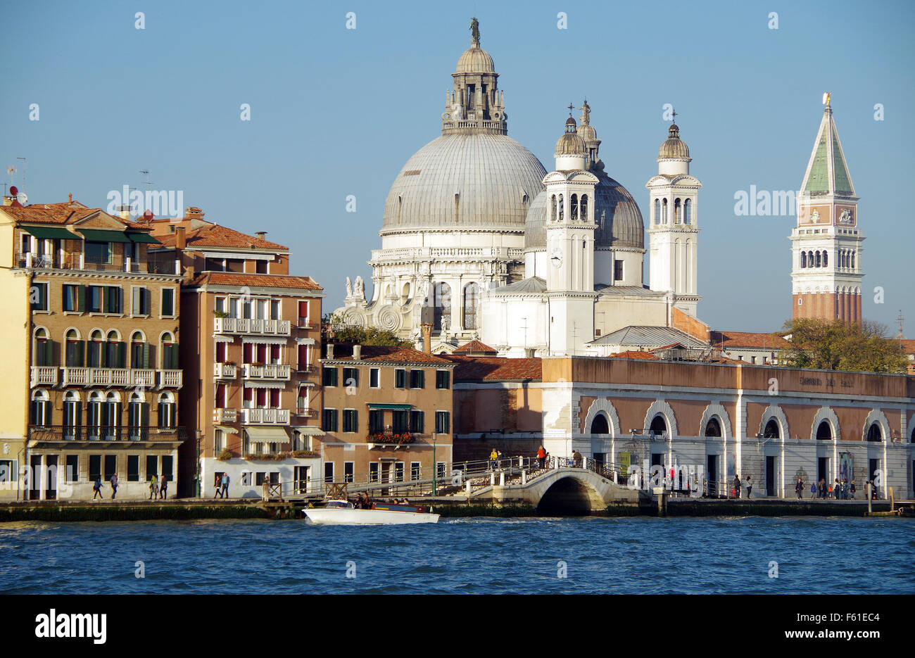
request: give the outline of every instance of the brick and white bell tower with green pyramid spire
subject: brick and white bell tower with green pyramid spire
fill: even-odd
[[[832,95],[797,198],[791,231],[791,318],[861,321],[862,243],[855,186],[833,120]]]

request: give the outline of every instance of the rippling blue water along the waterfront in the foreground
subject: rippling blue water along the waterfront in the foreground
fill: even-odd
[[[913,557],[911,519],[28,522],[0,524],[0,592],[912,594]]]

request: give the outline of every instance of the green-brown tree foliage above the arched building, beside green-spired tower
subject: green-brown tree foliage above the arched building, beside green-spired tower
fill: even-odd
[[[798,318],[785,322],[778,335],[791,344],[779,354],[790,368],[906,372],[902,345],[888,339],[886,325],[878,322]]]

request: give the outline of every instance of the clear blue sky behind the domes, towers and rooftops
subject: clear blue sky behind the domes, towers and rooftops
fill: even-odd
[[[554,0],[475,11],[509,134],[547,170],[565,106],[587,95],[608,173],[644,213],[662,107],[676,106],[704,185],[699,314],[715,329],[769,331],[790,316],[795,220],[736,217],[734,193],[800,187],[822,94],[833,92],[867,236],[864,315],[894,334],[901,308],[915,338],[915,3]],[[567,29],[556,27],[560,11]],[[183,190],[207,219],[288,245],[294,273],[318,280],[332,309],[345,276],[371,286],[387,190],[439,135],[473,13],[472,3],[427,1],[6,4],[0,165],[27,158],[31,202],[72,192],[102,208],[109,190],[144,187],[148,169],[153,189]],[[16,178],[23,187],[21,167]],[[345,211],[350,194],[356,213]]]

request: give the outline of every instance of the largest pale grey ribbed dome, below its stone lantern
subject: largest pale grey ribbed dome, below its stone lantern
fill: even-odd
[[[520,230],[546,175],[508,135],[442,135],[401,169],[384,204],[382,232],[492,226]]]

